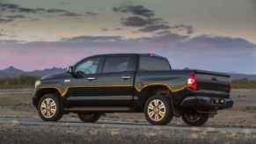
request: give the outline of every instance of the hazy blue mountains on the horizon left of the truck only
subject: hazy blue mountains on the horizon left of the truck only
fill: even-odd
[[[48,76],[52,74],[58,74],[66,71],[65,68],[46,68],[43,70],[23,71],[18,68],[9,67],[0,70],[0,77],[15,77],[15,76]]]

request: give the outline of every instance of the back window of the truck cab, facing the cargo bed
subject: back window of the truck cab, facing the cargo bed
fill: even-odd
[[[141,56],[139,67],[140,71],[171,70],[169,61],[153,56]]]

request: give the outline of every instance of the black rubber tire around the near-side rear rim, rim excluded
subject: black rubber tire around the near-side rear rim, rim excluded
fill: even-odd
[[[152,116],[150,116],[151,112],[155,113],[155,110],[154,111],[149,110],[150,103],[154,103],[154,100],[160,100],[161,103],[163,103],[165,105],[165,114],[163,114],[163,117],[161,117],[161,119],[158,119],[158,120],[156,120],[156,114],[153,114]],[[158,112],[159,112],[159,110],[160,109],[158,109]],[[159,92],[157,92],[157,94],[155,96],[150,97],[146,101],[146,103],[144,105],[144,114],[145,114],[145,118],[152,125],[159,125],[159,126],[167,125],[168,123],[170,123],[170,121],[172,120],[172,117],[173,117],[170,98],[165,95],[160,95]],[[155,117],[155,119],[152,117]]]

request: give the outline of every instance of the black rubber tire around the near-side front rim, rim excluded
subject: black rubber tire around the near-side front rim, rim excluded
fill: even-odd
[[[46,117],[45,114],[42,112],[42,103],[45,102],[47,98],[52,99],[55,102],[55,114],[51,117]],[[61,99],[59,98],[59,95],[56,93],[48,93],[44,95],[43,97],[40,98],[40,101],[37,106],[40,118],[43,119],[44,121],[57,121],[59,119],[62,119],[63,116],[63,107],[62,107],[62,102]]]

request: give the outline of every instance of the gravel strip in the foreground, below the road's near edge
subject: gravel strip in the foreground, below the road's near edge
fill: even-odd
[[[173,128],[166,126],[92,126],[0,124],[0,143],[255,143],[250,130],[222,131],[211,128]]]

